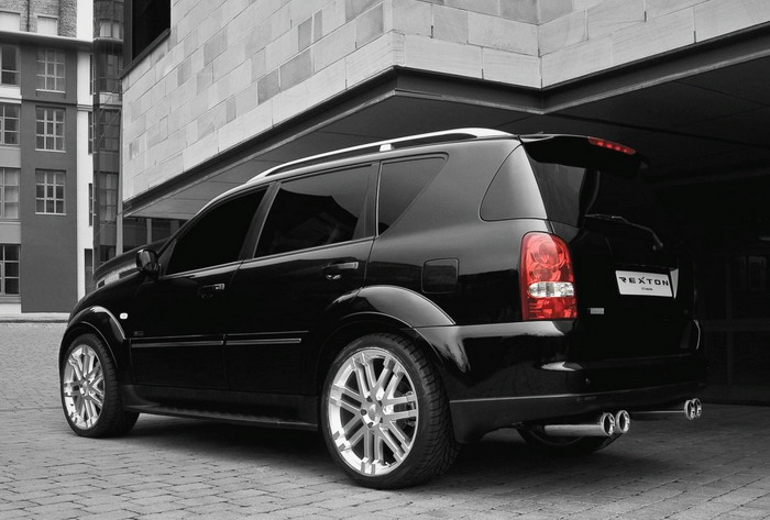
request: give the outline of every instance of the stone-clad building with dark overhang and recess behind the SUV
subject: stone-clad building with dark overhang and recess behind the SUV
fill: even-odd
[[[278,163],[420,132],[618,141],[649,157],[695,254],[713,397],[770,402],[770,2],[132,0],[125,14],[125,214],[187,219]]]

